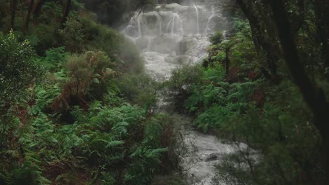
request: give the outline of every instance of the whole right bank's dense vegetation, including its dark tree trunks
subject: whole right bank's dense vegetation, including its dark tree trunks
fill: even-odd
[[[328,2],[226,3],[228,37],[169,81],[197,128],[239,147],[214,184],[328,184]]]

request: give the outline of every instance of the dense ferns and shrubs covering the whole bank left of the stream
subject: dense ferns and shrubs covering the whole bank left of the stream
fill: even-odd
[[[79,1],[27,3],[0,1],[0,184],[169,175],[174,125],[151,114],[157,83],[135,46]]]

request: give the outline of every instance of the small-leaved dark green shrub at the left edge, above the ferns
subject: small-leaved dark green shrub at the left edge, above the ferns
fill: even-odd
[[[15,101],[22,90],[41,76],[41,67],[34,62],[34,50],[28,41],[20,42],[11,32],[0,34],[0,104]]]

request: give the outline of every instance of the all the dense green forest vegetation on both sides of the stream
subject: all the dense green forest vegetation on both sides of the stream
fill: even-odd
[[[0,0],[0,184],[184,184],[163,89],[239,147],[214,184],[329,184],[328,1],[223,0],[231,30],[164,83],[107,26],[157,2]]]

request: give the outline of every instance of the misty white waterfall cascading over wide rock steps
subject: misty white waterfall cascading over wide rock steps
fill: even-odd
[[[162,4],[150,11],[136,12],[123,34],[143,51],[146,71],[151,76],[169,78],[172,69],[207,56],[207,36],[218,29],[214,21],[217,25],[223,21],[224,25],[221,11],[214,5],[200,5],[200,1]]]

